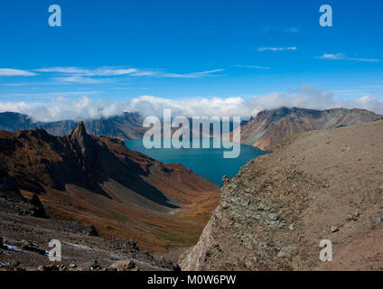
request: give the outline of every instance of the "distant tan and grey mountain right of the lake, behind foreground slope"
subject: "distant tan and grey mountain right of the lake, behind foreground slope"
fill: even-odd
[[[333,108],[314,110],[287,108],[265,110],[241,126],[243,144],[267,150],[291,135],[312,130],[353,126],[377,120],[378,116],[364,109]]]

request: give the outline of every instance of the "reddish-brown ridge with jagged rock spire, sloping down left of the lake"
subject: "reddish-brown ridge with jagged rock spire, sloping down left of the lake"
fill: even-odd
[[[64,137],[0,131],[0,166],[51,219],[91,224],[104,238],[134,238],[154,251],[198,238],[220,198],[214,183],[181,164],[89,135],[83,122]]]

